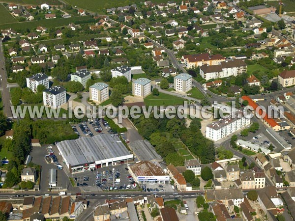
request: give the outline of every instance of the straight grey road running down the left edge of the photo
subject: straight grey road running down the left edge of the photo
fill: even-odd
[[[2,77],[1,77],[2,76]],[[7,74],[5,69],[5,59],[3,55],[2,41],[0,41],[0,86],[2,93],[3,109],[6,117],[12,118],[12,111],[10,108],[10,91],[7,84]]]

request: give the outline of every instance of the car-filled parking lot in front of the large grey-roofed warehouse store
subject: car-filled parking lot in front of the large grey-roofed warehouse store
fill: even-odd
[[[104,168],[97,168],[94,171],[85,171],[81,173],[73,174],[75,185],[83,191],[112,191],[114,190],[125,190],[133,180],[129,180],[131,176],[128,175],[129,171],[125,169],[127,165],[122,164],[118,166],[108,166]],[[114,168],[114,170],[113,170]],[[113,172],[114,171],[114,172]],[[118,179],[119,178],[119,179]],[[119,181],[119,182],[116,182]],[[137,186],[134,190],[138,190],[140,187]]]

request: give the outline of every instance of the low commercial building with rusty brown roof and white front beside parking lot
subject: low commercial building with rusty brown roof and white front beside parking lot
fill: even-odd
[[[129,165],[129,171],[134,180],[139,184],[149,183],[169,183],[170,177],[166,175],[158,162],[140,161],[134,165]]]

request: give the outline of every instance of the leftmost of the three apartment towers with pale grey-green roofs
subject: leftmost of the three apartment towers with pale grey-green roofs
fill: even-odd
[[[94,83],[89,86],[89,99],[97,102],[109,99],[109,85],[106,83]]]

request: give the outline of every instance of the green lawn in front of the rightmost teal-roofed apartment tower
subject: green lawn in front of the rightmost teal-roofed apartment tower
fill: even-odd
[[[169,105],[181,105],[184,99],[170,94],[160,93],[158,96],[148,95],[144,99],[145,105],[147,106],[169,106]]]

